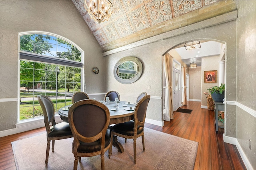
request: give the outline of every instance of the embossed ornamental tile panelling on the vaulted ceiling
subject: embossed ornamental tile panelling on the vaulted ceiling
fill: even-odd
[[[86,0],[89,1],[89,0]],[[110,0],[114,6],[108,21],[100,24],[90,19],[84,0],[72,0],[99,44],[106,45],[118,39],[136,36],[138,31],[161,25],[173,18],[198,10],[217,0]],[[138,41],[143,39],[138,38]]]

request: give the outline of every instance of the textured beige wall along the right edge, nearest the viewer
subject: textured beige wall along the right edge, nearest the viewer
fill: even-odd
[[[237,139],[256,169],[256,1],[239,1],[237,19],[237,102],[251,108],[254,116],[237,107]],[[252,150],[248,148],[252,141]]]

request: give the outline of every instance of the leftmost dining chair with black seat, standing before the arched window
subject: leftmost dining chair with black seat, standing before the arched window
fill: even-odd
[[[52,100],[50,100],[50,98],[48,98],[47,96],[43,95],[38,95],[37,98],[44,113],[44,124],[47,137],[45,164],[47,165],[50,151],[50,142],[52,141],[52,152],[54,152],[55,140],[67,139],[73,137],[73,135],[68,123],[61,122],[56,124],[54,119],[55,109]],[[50,123],[52,123],[51,127]]]

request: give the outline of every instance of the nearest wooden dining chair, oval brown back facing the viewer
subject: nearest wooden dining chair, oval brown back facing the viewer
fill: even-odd
[[[111,156],[112,135],[108,125],[110,112],[107,106],[96,100],[81,100],[74,103],[68,111],[68,122],[74,141],[74,170],[77,169],[81,157],[100,155],[101,169],[104,170],[104,153]]]

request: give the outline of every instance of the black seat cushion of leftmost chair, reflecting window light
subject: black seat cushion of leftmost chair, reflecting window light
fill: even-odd
[[[69,124],[66,122],[58,123],[50,127],[51,132],[48,134],[48,137],[62,137],[72,135],[72,131],[69,127]]]

